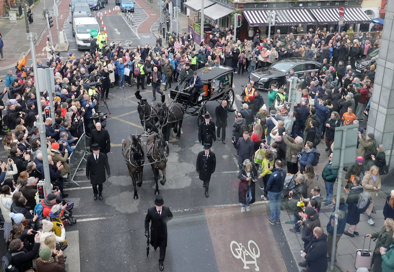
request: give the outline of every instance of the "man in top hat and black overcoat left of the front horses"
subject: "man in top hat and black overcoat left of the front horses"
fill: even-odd
[[[99,194],[99,200],[102,200],[102,184],[106,179],[105,172],[107,172],[108,177],[111,175],[108,158],[100,152],[100,146],[97,143],[92,144],[90,149],[93,153],[88,156],[86,161],[86,176],[93,186],[93,199],[97,200],[97,194]],[[97,187],[99,187],[99,190]]]

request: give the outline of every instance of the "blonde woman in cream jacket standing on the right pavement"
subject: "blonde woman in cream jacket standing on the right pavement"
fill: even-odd
[[[368,216],[368,224],[373,225],[375,224],[371,217],[373,200],[375,198],[375,194],[382,188],[379,168],[377,166],[372,166],[369,171],[365,172],[364,177],[362,178],[362,188],[364,188],[364,190],[372,197],[371,204],[369,204],[365,214]]]

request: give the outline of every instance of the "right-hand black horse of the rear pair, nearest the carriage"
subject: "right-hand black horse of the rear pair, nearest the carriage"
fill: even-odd
[[[169,140],[171,128],[176,138],[181,137],[181,128],[185,108],[181,103],[171,103],[169,107],[162,101],[154,108],[157,118],[159,131],[161,130],[166,141]]]

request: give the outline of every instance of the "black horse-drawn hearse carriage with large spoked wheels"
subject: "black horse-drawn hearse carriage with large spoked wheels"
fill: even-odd
[[[181,103],[185,107],[185,113],[197,114],[197,122],[200,124],[206,112],[206,102],[227,100],[227,106],[232,107],[234,103],[234,91],[232,90],[233,69],[231,67],[219,66],[200,68],[197,75],[204,85],[198,92],[198,99],[193,103],[193,97],[189,92],[189,82],[182,82],[174,90],[170,91],[170,98],[174,102]]]

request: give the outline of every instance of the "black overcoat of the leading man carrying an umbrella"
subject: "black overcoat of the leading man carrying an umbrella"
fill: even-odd
[[[172,212],[169,207],[163,206],[162,216],[159,216],[156,206],[148,209],[145,217],[145,231],[149,231],[149,222],[151,222],[150,243],[155,249],[167,245],[167,222],[171,219]]]

